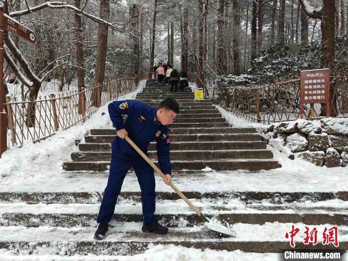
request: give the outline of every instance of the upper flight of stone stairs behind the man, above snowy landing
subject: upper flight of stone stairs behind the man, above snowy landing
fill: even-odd
[[[209,167],[216,171],[269,170],[281,167],[254,128],[233,128],[210,100],[194,100],[193,92],[170,92],[170,88],[148,80],[136,99],[157,107],[165,97],[174,97],[180,113],[171,124],[172,169],[174,173],[195,172]],[[106,171],[110,165],[114,129],[92,129],[65,162],[66,171]],[[157,162],[156,143],[151,143],[149,156]]]

